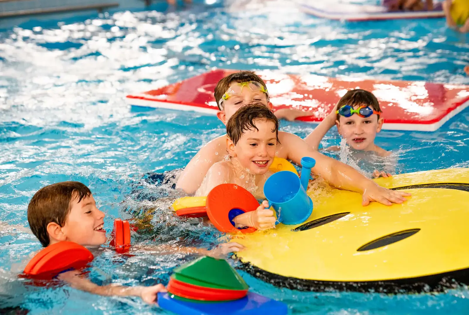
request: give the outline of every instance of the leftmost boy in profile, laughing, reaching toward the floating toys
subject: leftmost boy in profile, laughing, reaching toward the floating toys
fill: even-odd
[[[61,241],[98,247],[106,243],[105,214],[96,207],[91,191],[79,182],[61,182],[38,190],[28,205],[28,223],[42,246]],[[242,248],[224,244],[212,251],[197,248],[162,248],[166,253],[223,255]],[[159,246],[161,247],[161,246]],[[78,290],[106,296],[139,296],[147,303],[156,301],[158,292],[166,292],[163,284],[153,286],[97,285],[80,271],[65,271],[57,276]]]

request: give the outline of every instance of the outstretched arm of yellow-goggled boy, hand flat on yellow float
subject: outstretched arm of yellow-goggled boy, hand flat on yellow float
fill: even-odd
[[[336,188],[363,193],[363,206],[367,206],[371,201],[391,206],[392,202],[402,203],[406,200],[404,196],[410,196],[408,192],[393,191],[379,186],[347,164],[313,150],[303,139],[294,134],[282,133],[280,141],[287,146],[287,159],[301,164],[303,157],[312,157],[316,160],[316,166],[312,171],[315,174],[321,174],[329,184]]]

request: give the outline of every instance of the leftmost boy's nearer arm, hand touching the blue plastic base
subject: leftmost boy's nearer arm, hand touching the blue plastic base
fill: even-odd
[[[72,288],[104,296],[139,296],[147,303],[156,303],[157,293],[166,292],[163,284],[153,286],[97,285],[83,277],[77,270],[61,273],[58,278]]]

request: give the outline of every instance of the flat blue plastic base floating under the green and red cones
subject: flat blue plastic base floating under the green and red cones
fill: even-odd
[[[227,302],[189,302],[171,298],[171,293],[158,293],[161,308],[183,315],[286,315],[287,305],[283,302],[248,292],[241,300]]]

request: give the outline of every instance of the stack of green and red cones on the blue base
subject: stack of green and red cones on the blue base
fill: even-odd
[[[205,256],[174,269],[167,288],[182,299],[229,301],[244,298],[249,286],[227,261]]]

